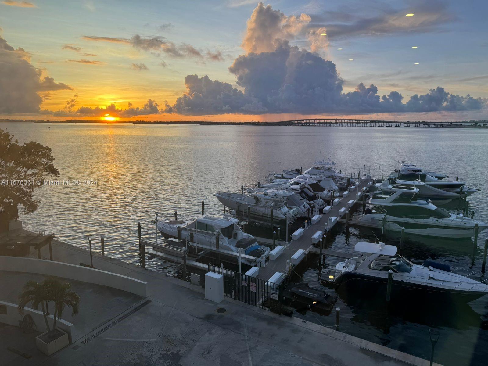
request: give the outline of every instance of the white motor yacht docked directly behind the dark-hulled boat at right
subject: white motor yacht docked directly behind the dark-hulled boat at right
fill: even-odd
[[[430,200],[417,200],[419,188],[392,186],[386,181],[378,188],[369,199],[375,210],[366,209],[359,224],[381,228],[386,214],[386,230],[401,231],[404,227],[408,234],[442,238],[470,238],[474,235],[475,224],[479,225],[478,233],[488,228],[486,222],[449,214]]]

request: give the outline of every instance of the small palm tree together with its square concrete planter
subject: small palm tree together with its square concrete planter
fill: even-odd
[[[36,281],[27,281],[19,295],[19,313],[23,315],[24,308],[31,304],[34,310],[38,310],[41,305],[42,315],[46,323],[47,331],[36,337],[36,345],[45,354],[50,355],[67,346],[68,334],[61,329],[56,328],[57,320],[61,319],[62,313],[66,306],[71,307],[71,313],[75,316],[80,307],[80,295],[71,291],[71,284],[54,278],[48,278],[41,283]],[[47,306],[53,303],[53,326],[49,326]]]

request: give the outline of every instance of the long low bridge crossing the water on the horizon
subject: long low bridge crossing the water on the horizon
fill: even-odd
[[[462,122],[410,122],[410,121],[380,121],[354,120],[347,118],[307,118],[278,122],[259,122],[259,126],[337,126],[337,127],[445,127],[453,124],[471,124],[472,121]]]

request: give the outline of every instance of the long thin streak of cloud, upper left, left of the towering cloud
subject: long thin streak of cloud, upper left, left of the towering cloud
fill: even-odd
[[[97,42],[111,42],[111,43],[125,43],[140,51],[152,52],[156,56],[160,56],[163,53],[167,56],[174,58],[196,58],[207,59],[209,61],[221,61],[218,55],[222,56],[220,51],[203,54],[194,46],[188,43],[175,44],[172,41],[168,41],[165,37],[142,37],[138,34],[128,38],[112,38],[112,37],[99,37],[99,36],[82,36],[85,41],[97,41]],[[217,57],[216,57],[217,55]]]

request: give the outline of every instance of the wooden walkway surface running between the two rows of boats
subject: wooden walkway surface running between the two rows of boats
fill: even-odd
[[[290,261],[290,264],[292,264],[292,257],[300,249],[304,250],[304,255],[306,256],[306,254],[308,254],[308,252],[315,246],[315,244],[312,243],[312,236],[314,236],[317,231],[321,231],[323,235],[325,234],[325,226],[329,224],[329,218],[332,219],[333,217],[336,217],[328,227],[328,230],[335,226],[339,219],[346,215],[347,209],[362,197],[363,187],[366,187],[369,184],[370,181],[361,181],[358,185],[354,185],[349,194],[346,197],[341,198],[339,203],[334,203],[334,205],[330,207],[330,211],[324,213],[317,223],[309,225],[300,238],[289,242],[278,258],[269,260],[264,268],[260,268],[257,278],[269,281],[276,272],[282,272],[285,275],[286,262]],[[349,203],[351,200],[353,203]],[[305,256],[303,256],[301,260],[303,260]]]

